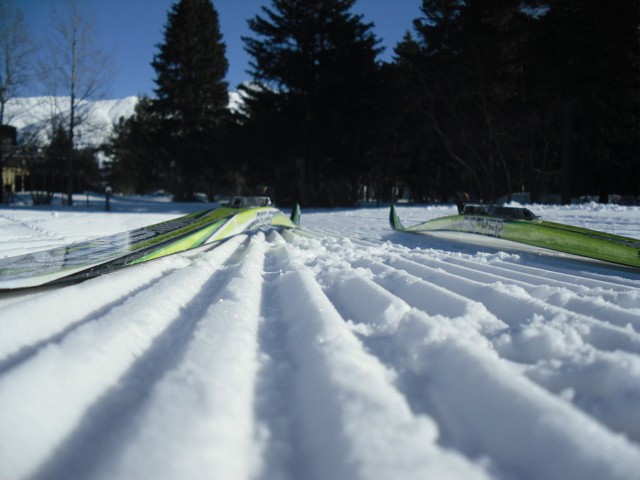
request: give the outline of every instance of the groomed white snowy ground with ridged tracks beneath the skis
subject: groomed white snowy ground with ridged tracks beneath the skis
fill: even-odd
[[[0,258],[203,208],[113,206],[2,208]],[[637,207],[530,208],[640,238]],[[0,296],[0,479],[640,478],[640,275],[387,216]]]

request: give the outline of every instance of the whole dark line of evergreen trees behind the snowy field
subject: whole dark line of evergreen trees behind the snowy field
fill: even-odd
[[[637,198],[637,2],[423,0],[390,63],[354,3],[272,0],[249,19],[253,80],[231,110],[214,6],[176,3],[156,97],[112,139],[114,186],[181,199],[268,186],[306,205]]]

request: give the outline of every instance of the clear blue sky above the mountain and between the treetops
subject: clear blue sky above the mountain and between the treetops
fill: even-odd
[[[52,6],[61,0],[13,0],[22,9],[31,36],[44,41],[49,31]],[[114,63],[109,98],[129,95],[153,95],[155,72],[150,63],[163,41],[167,12],[177,0],[80,0],[88,15],[97,24],[96,41],[104,52],[111,52]],[[353,9],[374,23],[374,33],[386,47],[381,56],[390,60],[393,48],[412,21],[420,16],[421,0],[358,0]],[[260,13],[270,0],[213,0],[220,16],[220,29],[227,46],[229,71],[227,81],[231,89],[249,79],[246,73],[249,57],[244,51],[241,36],[252,36],[247,20]],[[26,95],[41,92],[34,90]]]

